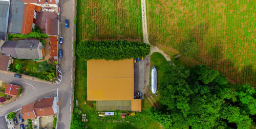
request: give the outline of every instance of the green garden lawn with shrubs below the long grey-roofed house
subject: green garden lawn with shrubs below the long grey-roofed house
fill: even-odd
[[[46,79],[47,75],[50,73],[49,71],[41,71],[40,66],[38,62],[33,61],[33,60],[20,60],[20,59],[14,59],[13,65],[12,65],[12,70],[13,72],[17,72],[18,70],[16,69],[16,65],[21,64],[22,67],[20,68],[20,73],[23,74],[28,74],[31,76],[35,76],[39,79]],[[51,65],[51,64],[49,64]],[[51,72],[54,72],[55,74],[55,67],[51,65],[53,69],[51,69]]]

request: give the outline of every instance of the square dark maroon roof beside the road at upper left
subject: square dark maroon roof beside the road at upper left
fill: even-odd
[[[46,18],[46,34],[58,35],[58,19]]]

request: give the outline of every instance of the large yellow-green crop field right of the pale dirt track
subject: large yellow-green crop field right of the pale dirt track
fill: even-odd
[[[148,37],[154,45],[198,44],[194,59],[233,83],[256,87],[256,1],[147,1]]]

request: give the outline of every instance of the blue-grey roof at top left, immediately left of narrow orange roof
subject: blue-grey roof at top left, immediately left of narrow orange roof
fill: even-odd
[[[22,31],[22,20],[25,4],[22,0],[11,0],[8,33],[18,33]]]

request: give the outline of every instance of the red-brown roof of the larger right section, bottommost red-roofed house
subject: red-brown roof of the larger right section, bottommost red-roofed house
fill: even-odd
[[[54,115],[52,109],[54,97],[42,98],[35,102],[34,111],[36,116],[51,116]]]

